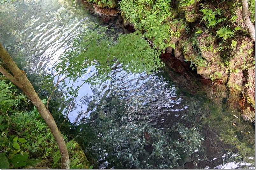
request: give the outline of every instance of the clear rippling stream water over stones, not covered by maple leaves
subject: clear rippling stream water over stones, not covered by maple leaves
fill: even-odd
[[[40,76],[53,71],[88,22],[98,17],[78,1],[4,3],[0,41],[28,76]],[[119,25],[119,20],[108,24],[113,36],[127,32]],[[191,78],[197,84],[191,91],[186,77],[168,67],[133,75],[116,66],[111,77],[85,84],[68,116],[94,168],[255,167],[254,125],[226,109],[225,96],[214,102],[218,99],[207,95],[210,87],[199,79]]]

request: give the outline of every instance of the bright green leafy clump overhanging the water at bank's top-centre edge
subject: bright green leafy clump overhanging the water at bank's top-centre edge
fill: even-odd
[[[145,32],[143,37],[153,42],[154,46],[165,49],[170,46],[172,30],[166,22],[173,17],[170,0],[122,0],[119,2],[120,10],[125,19],[134,24],[134,27]]]

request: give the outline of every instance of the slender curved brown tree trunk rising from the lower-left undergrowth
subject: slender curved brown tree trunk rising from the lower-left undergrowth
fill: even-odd
[[[40,98],[38,97],[38,94],[34,90],[32,84],[27,79],[27,76],[23,70],[20,70],[18,66],[14,63],[11,56],[8,54],[8,52],[4,49],[2,44],[0,43],[0,57],[6,64],[6,66],[10,69],[13,76],[8,73],[2,66],[0,66],[0,72],[8,78],[15,78],[10,79],[15,85],[17,85],[21,90],[25,93],[25,95],[29,98],[29,100],[34,104],[36,109],[38,110],[41,117],[45,120],[46,124],[49,126],[53,137],[55,138],[60,154],[61,154],[61,163],[62,168],[69,169],[69,156],[68,156],[68,150],[66,143],[63,139],[63,136],[61,135],[57,124],[55,123],[53,116],[49,112],[49,110],[46,110],[45,105],[42,103]]]

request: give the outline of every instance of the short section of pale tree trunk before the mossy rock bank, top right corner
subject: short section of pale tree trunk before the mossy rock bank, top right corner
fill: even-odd
[[[243,14],[243,21],[245,23],[245,27],[251,39],[255,41],[255,34],[254,34],[255,29],[249,17],[250,14],[249,14],[249,7],[248,7],[247,0],[241,0],[241,5],[242,5],[242,14]]]

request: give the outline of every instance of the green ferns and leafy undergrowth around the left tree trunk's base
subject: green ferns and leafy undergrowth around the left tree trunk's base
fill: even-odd
[[[52,168],[60,168],[60,151],[36,108],[27,111],[27,99],[7,80],[0,81],[0,91],[0,168],[35,166],[42,160]],[[74,152],[76,144],[73,140],[67,142],[69,152],[72,151],[71,168],[88,168],[81,153]]]

